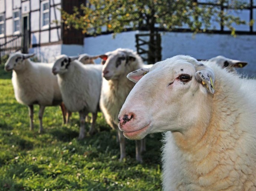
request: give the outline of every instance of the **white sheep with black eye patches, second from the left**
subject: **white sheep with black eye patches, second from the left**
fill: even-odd
[[[85,134],[85,116],[92,113],[93,128],[99,109],[101,93],[102,65],[83,65],[76,58],[60,55],[55,61],[52,72],[57,75],[63,102],[70,112],[79,112],[80,131],[78,139],[83,139]]]

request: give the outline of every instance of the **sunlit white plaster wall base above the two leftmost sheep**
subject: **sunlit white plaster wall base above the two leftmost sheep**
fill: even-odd
[[[41,62],[53,62],[61,54],[61,44],[30,48],[29,53],[36,53]]]

